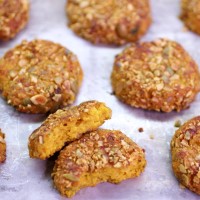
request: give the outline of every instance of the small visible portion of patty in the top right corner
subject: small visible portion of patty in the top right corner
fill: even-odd
[[[182,0],[181,16],[185,25],[193,32],[200,34],[200,1]]]

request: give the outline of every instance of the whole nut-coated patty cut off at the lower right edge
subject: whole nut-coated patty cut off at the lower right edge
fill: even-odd
[[[200,116],[187,121],[175,132],[171,154],[177,179],[200,195]]]

